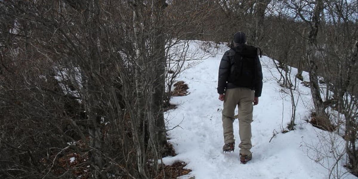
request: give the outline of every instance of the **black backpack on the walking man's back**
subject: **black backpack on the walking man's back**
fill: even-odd
[[[235,50],[233,60],[234,69],[232,71],[233,82],[238,87],[248,87],[253,89],[257,76],[256,58],[258,48],[251,45],[243,45],[240,50],[237,48],[232,49]]]

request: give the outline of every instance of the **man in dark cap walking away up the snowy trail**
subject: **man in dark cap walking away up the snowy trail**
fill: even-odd
[[[234,35],[234,48],[227,50],[220,62],[218,93],[224,101],[222,111],[224,152],[234,151],[233,121],[238,107],[240,161],[245,164],[252,159],[251,122],[253,105],[258,104],[262,91],[262,69],[257,48],[246,45],[246,35]]]

